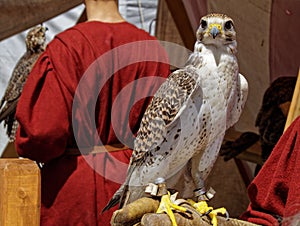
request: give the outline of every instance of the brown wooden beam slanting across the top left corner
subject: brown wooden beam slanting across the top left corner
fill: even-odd
[[[0,0],[0,40],[47,21],[82,0]]]

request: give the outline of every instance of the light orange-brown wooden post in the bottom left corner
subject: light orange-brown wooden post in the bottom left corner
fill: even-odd
[[[0,158],[0,225],[40,225],[40,170],[28,159]]]

